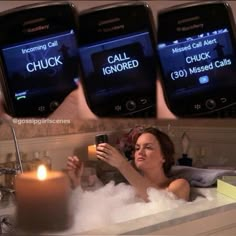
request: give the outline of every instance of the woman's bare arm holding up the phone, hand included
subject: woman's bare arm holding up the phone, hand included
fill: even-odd
[[[116,167],[127,181],[135,188],[143,200],[148,201],[147,188],[157,188],[150,180],[144,178],[122,155],[110,144],[101,143],[97,146],[97,157]]]

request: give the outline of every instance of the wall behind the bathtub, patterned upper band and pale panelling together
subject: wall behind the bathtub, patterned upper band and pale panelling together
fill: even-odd
[[[77,154],[87,158],[87,147],[94,143],[97,133],[107,133],[111,142],[136,125],[154,125],[165,131],[173,139],[176,147],[176,159],[182,154],[181,136],[186,132],[190,138],[189,155],[196,161],[203,155],[204,165],[207,166],[236,166],[236,124],[235,121],[212,120],[99,120],[78,121],[70,125],[14,125],[19,139],[20,151],[28,159],[34,152],[49,151],[53,160],[53,168],[65,167],[66,157]],[[0,126],[1,131],[8,127]],[[3,162],[9,153],[14,153],[11,133],[1,132],[0,157]]]

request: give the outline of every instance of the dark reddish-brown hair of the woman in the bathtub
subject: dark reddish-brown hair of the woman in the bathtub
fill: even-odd
[[[141,133],[139,133],[136,136],[135,143],[137,142],[138,138],[145,133],[152,134],[156,137],[157,141],[160,144],[161,152],[163,154],[163,157],[165,159],[165,162],[163,164],[163,169],[165,175],[168,175],[168,172],[170,171],[171,167],[174,165],[174,154],[175,154],[175,147],[174,143],[170,139],[170,137],[165,134],[164,132],[158,130],[154,127],[145,128]]]

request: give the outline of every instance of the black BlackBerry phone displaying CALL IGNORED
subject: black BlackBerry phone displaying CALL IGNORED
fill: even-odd
[[[80,12],[81,81],[99,117],[156,116],[154,19],[143,2]]]

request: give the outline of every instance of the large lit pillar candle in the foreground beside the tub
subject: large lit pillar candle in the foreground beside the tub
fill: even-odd
[[[25,231],[60,231],[72,224],[70,184],[59,171],[37,171],[16,176],[16,227]]]

